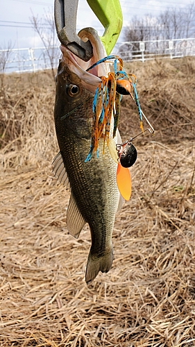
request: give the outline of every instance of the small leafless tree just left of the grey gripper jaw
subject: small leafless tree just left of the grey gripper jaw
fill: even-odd
[[[51,73],[55,79],[55,60],[58,53],[58,37],[56,35],[56,26],[51,12],[45,12],[44,18],[38,18],[33,15],[30,18],[33,28],[39,35],[44,45],[46,56],[49,58]]]

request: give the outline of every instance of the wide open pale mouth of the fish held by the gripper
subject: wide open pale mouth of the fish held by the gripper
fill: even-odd
[[[90,60],[85,62],[84,60],[75,56],[74,53],[71,53],[67,47],[60,45],[60,50],[62,51],[62,61],[69,67],[69,69],[74,72],[79,78],[80,81],[87,90],[90,92],[95,92],[96,88],[101,83],[101,76],[108,76],[109,64],[101,63],[86,71],[89,67],[94,65],[95,62],[101,60],[106,56],[105,49],[99,38],[97,31],[94,28],[85,28],[82,29],[78,36],[81,40],[86,42],[90,40],[93,47],[93,56]]]

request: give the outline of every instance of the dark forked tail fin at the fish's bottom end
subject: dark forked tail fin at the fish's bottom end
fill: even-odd
[[[90,282],[92,282],[94,278],[96,278],[99,271],[108,272],[111,269],[112,260],[113,260],[112,246],[110,247],[109,250],[107,250],[101,256],[92,255],[92,252],[90,251],[90,254],[87,260],[87,269],[85,273],[85,281],[87,285],[89,285]]]

